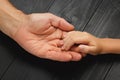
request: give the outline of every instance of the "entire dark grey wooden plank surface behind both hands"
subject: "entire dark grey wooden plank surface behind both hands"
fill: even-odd
[[[10,0],[26,14],[50,12],[76,30],[120,38],[120,0]],[[0,80],[120,80],[120,55],[88,55],[79,62],[36,58],[0,33]]]

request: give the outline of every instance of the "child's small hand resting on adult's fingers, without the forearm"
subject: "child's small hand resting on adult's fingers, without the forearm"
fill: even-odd
[[[87,32],[71,31],[64,36],[62,49],[97,55],[101,52],[101,44],[99,38]]]

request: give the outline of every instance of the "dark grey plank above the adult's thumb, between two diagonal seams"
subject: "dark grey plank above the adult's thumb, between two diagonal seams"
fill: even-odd
[[[101,1],[56,0],[49,11],[66,19],[75,26],[76,30],[83,30]]]

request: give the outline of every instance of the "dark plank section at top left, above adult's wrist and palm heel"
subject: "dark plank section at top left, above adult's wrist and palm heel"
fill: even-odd
[[[48,12],[54,0],[10,0],[10,2],[24,13]]]

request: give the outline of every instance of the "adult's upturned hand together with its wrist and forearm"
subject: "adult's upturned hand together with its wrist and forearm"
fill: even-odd
[[[52,14],[26,15],[8,0],[0,0],[0,30],[37,57],[58,61],[81,58],[78,53],[63,52],[58,47],[63,30],[73,30],[73,26]]]

